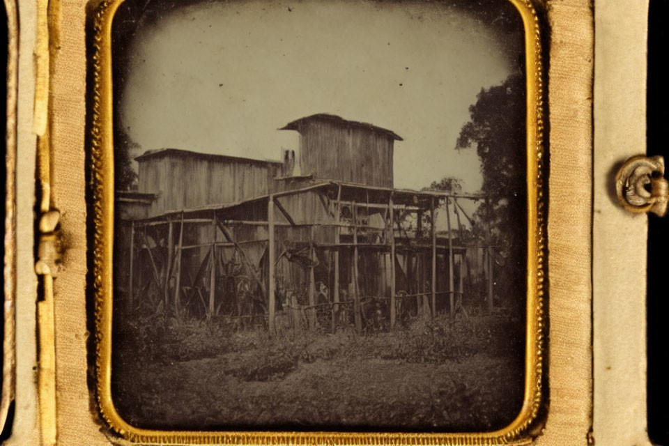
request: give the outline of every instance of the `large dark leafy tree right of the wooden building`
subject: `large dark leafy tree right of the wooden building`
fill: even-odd
[[[527,179],[525,76],[518,72],[502,84],[482,89],[469,108],[456,150],[476,148],[483,174],[482,192],[488,197],[477,210],[477,220],[489,226],[495,249],[497,295],[513,305],[525,295],[527,245]]]

